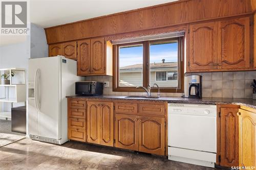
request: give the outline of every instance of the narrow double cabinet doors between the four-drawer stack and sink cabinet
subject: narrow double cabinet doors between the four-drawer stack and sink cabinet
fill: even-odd
[[[87,102],[87,142],[114,145],[114,105]]]

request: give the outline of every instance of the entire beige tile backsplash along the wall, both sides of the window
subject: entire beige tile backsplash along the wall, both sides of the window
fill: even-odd
[[[256,71],[233,72],[197,72],[188,75],[202,76],[204,98],[252,98],[250,84],[256,79]],[[144,95],[143,92],[115,92],[112,90],[112,76],[87,76],[86,81],[110,82],[104,87],[103,94],[109,95]],[[161,93],[161,96],[182,96],[184,93]],[[157,93],[152,93],[157,95]]]

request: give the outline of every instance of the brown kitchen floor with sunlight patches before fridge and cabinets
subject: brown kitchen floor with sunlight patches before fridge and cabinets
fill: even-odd
[[[23,139],[0,148],[1,170],[10,169],[173,169],[215,168],[169,161],[166,157],[68,141],[55,145]]]

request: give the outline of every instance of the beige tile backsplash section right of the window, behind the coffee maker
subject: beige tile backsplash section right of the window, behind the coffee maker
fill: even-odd
[[[252,98],[250,84],[256,71],[199,72],[188,75],[202,76],[204,98]]]

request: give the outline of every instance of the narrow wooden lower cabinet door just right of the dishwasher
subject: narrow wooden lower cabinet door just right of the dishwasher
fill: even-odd
[[[225,167],[239,165],[238,108],[221,108],[220,117],[220,165]]]

